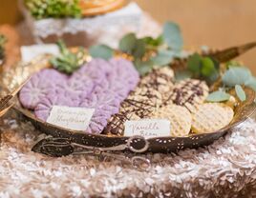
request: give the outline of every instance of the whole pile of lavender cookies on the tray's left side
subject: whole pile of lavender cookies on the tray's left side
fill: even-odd
[[[100,133],[138,82],[139,73],[130,61],[94,59],[71,76],[55,69],[39,71],[21,89],[19,99],[23,107],[34,110],[44,121],[54,105],[94,108],[86,131]]]

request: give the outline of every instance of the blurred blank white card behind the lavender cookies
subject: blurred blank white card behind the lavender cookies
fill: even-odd
[[[55,44],[41,44],[32,46],[22,46],[20,48],[21,59],[23,62],[30,62],[33,58],[42,54],[59,55],[59,49]]]

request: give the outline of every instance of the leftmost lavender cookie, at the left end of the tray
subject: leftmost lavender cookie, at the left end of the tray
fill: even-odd
[[[19,93],[19,100],[22,106],[27,109],[34,109],[41,99],[47,97],[48,94],[54,93],[54,84],[64,82],[66,79],[66,75],[54,69],[43,69],[32,75],[30,81]]]

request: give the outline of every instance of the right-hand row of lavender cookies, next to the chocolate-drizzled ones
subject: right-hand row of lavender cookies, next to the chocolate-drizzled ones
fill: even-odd
[[[109,63],[111,69],[109,65],[105,67],[106,70],[109,69],[109,72],[104,71],[105,80],[98,84],[92,94],[81,104],[82,107],[96,108],[89,132],[100,133],[106,127],[107,120],[118,112],[120,103],[139,82],[139,73],[131,62],[112,59]]]

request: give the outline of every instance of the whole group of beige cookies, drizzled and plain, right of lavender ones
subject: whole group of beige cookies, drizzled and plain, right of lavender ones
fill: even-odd
[[[123,135],[127,120],[143,118],[168,119],[170,136],[209,133],[227,126],[233,119],[233,109],[223,103],[205,103],[209,88],[204,81],[185,79],[174,83],[173,70],[155,69],[140,80],[111,117],[104,132]]]

